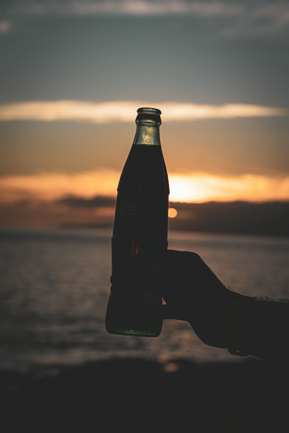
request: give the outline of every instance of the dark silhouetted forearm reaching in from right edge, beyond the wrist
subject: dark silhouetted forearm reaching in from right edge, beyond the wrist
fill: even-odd
[[[221,335],[232,355],[253,355],[288,364],[289,303],[260,301],[231,293],[224,305]]]

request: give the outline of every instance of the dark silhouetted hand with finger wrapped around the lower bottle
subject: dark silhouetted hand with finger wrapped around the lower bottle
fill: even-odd
[[[135,269],[114,274],[113,284],[127,290],[154,291],[162,296],[164,319],[187,320],[203,343],[227,348],[220,327],[224,308],[232,295],[194,252],[167,250],[164,271]]]

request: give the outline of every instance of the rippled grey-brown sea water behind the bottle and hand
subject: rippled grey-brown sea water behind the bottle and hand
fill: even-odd
[[[165,320],[157,338],[108,334],[110,237],[107,229],[0,230],[0,368],[115,357],[240,361],[205,346],[186,322]],[[170,232],[169,248],[197,252],[242,294],[288,295],[289,239]]]

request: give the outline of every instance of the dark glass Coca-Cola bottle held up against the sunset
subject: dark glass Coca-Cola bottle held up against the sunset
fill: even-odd
[[[111,239],[112,273],[129,269],[161,270],[168,247],[169,180],[159,139],[161,111],[139,108],[136,135],[117,187]],[[111,286],[105,326],[118,335],[157,337],[162,329],[162,298],[140,290]]]

